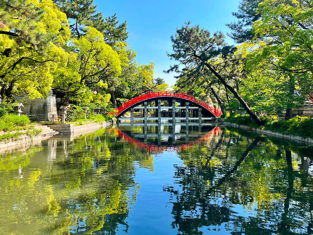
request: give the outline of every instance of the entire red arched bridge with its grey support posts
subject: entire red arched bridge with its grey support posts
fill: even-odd
[[[161,106],[161,101],[167,100],[168,106]],[[155,101],[155,106],[147,106],[148,102]],[[176,102],[180,102],[180,106],[175,106]],[[142,105],[142,106],[140,106]],[[143,117],[135,118],[134,109],[143,109]],[[155,109],[155,117],[148,117],[147,109]],[[164,115],[161,110],[168,110],[168,115]],[[176,112],[176,110],[180,110]],[[131,111],[131,117],[122,118],[125,112]],[[190,116],[191,113],[191,117]],[[163,117],[162,117],[163,115]],[[143,120],[147,122],[148,120],[176,120],[189,122],[190,120],[203,121],[210,120],[221,115],[220,108],[214,108],[212,105],[197,99],[196,97],[171,91],[162,92],[149,92],[148,94],[136,97],[125,104],[121,105],[116,110],[116,118],[121,120]]]

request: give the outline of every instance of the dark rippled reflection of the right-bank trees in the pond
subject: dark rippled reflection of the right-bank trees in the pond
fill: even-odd
[[[222,131],[209,145],[178,152],[184,166],[163,187],[178,234],[312,234],[313,180],[303,164],[312,148]]]

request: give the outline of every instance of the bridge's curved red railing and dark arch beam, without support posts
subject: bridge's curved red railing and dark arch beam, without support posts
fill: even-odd
[[[149,92],[145,95],[136,97],[124,103],[123,105],[117,108],[116,117],[121,118],[121,116],[125,112],[130,111],[131,108],[135,108],[138,105],[144,104],[145,102],[157,101],[157,100],[175,100],[178,102],[189,102],[190,105],[200,108],[203,116],[208,117],[208,118],[210,117],[216,118],[221,115],[221,112],[219,111],[219,109],[214,108],[210,104],[204,101],[201,101],[197,99],[196,97],[193,97],[184,93],[178,93],[178,92],[172,92],[172,91],[161,91],[161,92]]]

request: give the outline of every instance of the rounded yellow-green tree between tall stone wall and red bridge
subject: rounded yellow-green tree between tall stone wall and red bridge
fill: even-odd
[[[95,28],[88,26],[85,30],[85,35],[71,41],[73,59],[55,71],[54,87],[64,89],[64,104],[69,100],[92,100],[92,91],[107,88],[111,78],[121,73],[123,54],[118,55],[106,44],[103,34]]]

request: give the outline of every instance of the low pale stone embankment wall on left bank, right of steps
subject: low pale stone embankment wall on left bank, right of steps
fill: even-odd
[[[71,134],[74,132],[86,132],[90,129],[106,127],[111,123],[109,122],[94,123],[93,121],[85,121],[82,122],[82,124],[83,125],[80,125],[80,123],[65,123],[65,124],[51,124],[47,126],[59,133]]]

